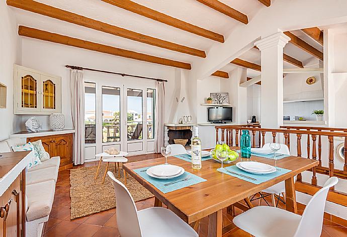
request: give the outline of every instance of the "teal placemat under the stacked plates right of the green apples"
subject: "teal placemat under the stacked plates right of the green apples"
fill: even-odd
[[[276,167],[276,168],[278,168],[278,167]],[[281,176],[283,174],[286,174],[288,172],[291,172],[291,170],[287,170],[284,168],[278,168],[278,170],[276,172],[271,173],[271,174],[251,174],[251,173],[248,173],[246,171],[243,171],[243,170],[237,168],[236,165],[225,167],[225,169],[232,171],[234,173],[237,173],[237,174],[241,174],[241,175],[245,175],[245,176],[254,178],[256,180],[248,179],[248,178],[236,175],[236,174],[231,174],[225,170],[222,170],[221,168],[218,168],[217,170],[219,172],[223,172],[224,174],[231,175],[233,177],[242,179],[242,180],[247,181],[247,182],[251,182],[253,184],[261,184],[261,183],[264,183],[270,179],[273,179],[273,178],[276,178],[276,177]]]

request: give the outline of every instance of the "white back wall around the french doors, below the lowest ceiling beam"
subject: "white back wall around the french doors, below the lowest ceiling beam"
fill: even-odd
[[[168,82],[165,83],[166,98],[172,98],[173,89],[175,87],[175,68],[35,39],[23,38],[22,41],[23,66],[62,77],[62,113],[65,115],[66,129],[72,128],[70,114],[69,69],[64,67],[66,64],[166,79],[168,80]],[[12,66],[10,68],[12,70]],[[118,75],[86,70],[83,71],[83,73],[84,80],[86,81],[88,81],[88,78],[106,78],[112,80],[115,77],[120,77]],[[123,78],[124,80],[138,80],[131,77]],[[165,100],[165,123],[168,121],[168,114],[172,103],[172,99]],[[31,115],[18,116],[18,123],[21,124],[21,128],[16,128],[17,131],[25,129],[24,123],[30,116]],[[37,115],[36,117],[43,124],[43,129],[49,129],[47,115]]]

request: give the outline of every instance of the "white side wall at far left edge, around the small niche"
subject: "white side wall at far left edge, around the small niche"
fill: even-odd
[[[9,138],[16,124],[13,114],[13,64],[21,62],[17,22],[6,1],[0,3],[0,82],[7,85],[7,107],[0,108],[0,141]]]

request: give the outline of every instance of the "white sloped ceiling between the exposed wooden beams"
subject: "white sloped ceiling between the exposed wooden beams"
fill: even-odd
[[[134,2],[175,17],[193,25],[211,30],[215,33],[222,34],[226,38],[230,32],[239,25],[247,27],[224,14],[221,14],[196,0],[133,0]],[[220,0],[224,4],[240,11],[248,16],[251,21],[253,16],[261,9],[266,8],[257,0]],[[111,25],[122,27],[134,32],[145,34],[151,37],[159,38],[173,43],[189,46],[192,48],[205,50],[206,54],[213,44],[221,44],[219,42],[159,23],[149,18],[137,15],[127,10],[115,7],[113,5],[96,0],[37,0],[56,8],[60,8],[72,13],[83,15],[98,21],[102,21]],[[88,40],[96,43],[114,46],[117,48],[145,53],[162,58],[192,63],[199,59],[196,56],[179,53],[162,49],[159,47],[143,44],[129,39],[117,37],[111,34],[92,30],[89,28],[77,26],[64,21],[41,16],[39,14],[27,12],[13,8],[19,25],[24,25],[40,30],[54,32],[67,35],[82,40]],[[266,9],[264,9],[266,11]],[[301,31],[293,31],[293,34],[299,36],[307,43],[322,50],[322,47]],[[291,45],[290,43],[284,48],[284,52],[300,61],[307,61],[312,58],[311,55],[303,50]],[[261,64],[261,53],[257,49],[251,49],[240,55],[241,59],[256,64]],[[202,59],[203,60],[203,59]],[[295,66],[284,63],[285,68],[293,68]],[[228,64],[221,68],[223,71],[231,71],[236,68],[235,65]],[[247,70],[247,76],[254,77],[259,72]]]

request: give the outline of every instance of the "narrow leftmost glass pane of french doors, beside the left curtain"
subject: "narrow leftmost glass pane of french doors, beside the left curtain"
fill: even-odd
[[[84,143],[96,143],[97,113],[95,83],[84,82]]]

